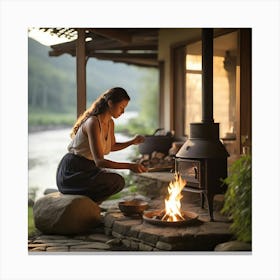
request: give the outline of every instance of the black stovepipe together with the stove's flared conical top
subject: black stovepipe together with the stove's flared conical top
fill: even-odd
[[[202,121],[190,124],[190,137],[177,158],[224,158],[229,154],[220,141],[219,123],[213,119],[213,28],[202,28]]]

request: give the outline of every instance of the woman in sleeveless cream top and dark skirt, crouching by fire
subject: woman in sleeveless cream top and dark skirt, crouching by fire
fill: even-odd
[[[69,152],[57,169],[56,181],[61,193],[86,195],[100,204],[125,185],[121,175],[106,169],[129,169],[136,173],[146,171],[141,164],[104,158],[111,151],[144,141],[143,136],[137,135],[130,141],[116,142],[112,117],[122,115],[129,100],[123,88],[112,88],[78,118],[72,128]]]

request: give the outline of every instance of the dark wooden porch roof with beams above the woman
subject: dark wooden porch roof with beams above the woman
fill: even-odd
[[[50,56],[76,56],[78,29],[85,34],[85,56],[145,67],[158,66],[159,28],[40,28],[72,41],[51,45]]]

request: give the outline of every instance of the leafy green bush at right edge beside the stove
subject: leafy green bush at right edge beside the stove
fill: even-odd
[[[228,185],[225,193],[223,214],[228,214],[233,222],[231,230],[237,239],[252,240],[252,158],[242,155],[229,169],[229,176],[223,180]]]

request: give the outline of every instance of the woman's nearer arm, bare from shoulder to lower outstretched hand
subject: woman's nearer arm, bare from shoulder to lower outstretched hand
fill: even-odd
[[[112,169],[129,169],[136,173],[146,171],[146,168],[141,164],[129,162],[115,162],[104,158],[101,143],[101,131],[96,117],[89,118],[83,124],[83,131],[88,137],[90,150],[97,167]]]

